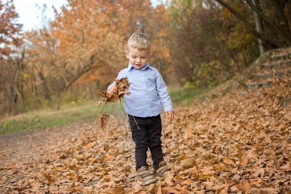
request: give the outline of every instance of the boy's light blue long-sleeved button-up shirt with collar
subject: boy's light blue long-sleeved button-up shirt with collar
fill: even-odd
[[[129,79],[129,92],[131,92],[129,96],[124,95],[126,113],[139,117],[147,117],[157,116],[161,113],[162,107],[164,112],[174,111],[167,86],[156,68],[146,64],[143,68],[136,69],[129,63],[128,68],[118,73],[117,79],[120,80],[125,77]],[[115,85],[115,81],[108,86],[108,89],[112,85]]]

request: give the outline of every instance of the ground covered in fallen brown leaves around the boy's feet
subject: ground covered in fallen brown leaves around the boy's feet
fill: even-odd
[[[1,194],[291,193],[291,78],[162,115],[163,180],[140,186],[124,114],[0,135]],[[148,152],[148,162],[150,152]]]

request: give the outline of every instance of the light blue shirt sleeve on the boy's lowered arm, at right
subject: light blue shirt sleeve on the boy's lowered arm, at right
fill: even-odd
[[[156,70],[156,89],[157,89],[158,97],[161,100],[164,112],[166,113],[168,111],[174,111],[171,97],[167,91],[167,86],[165,82],[163,81],[162,75],[160,74],[158,70]]]

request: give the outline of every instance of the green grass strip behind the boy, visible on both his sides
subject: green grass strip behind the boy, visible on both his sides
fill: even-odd
[[[201,97],[202,94],[208,91],[203,90],[187,90],[183,87],[168,87],[174,108],[179,105],[187,105],[190,101]],[[95,101],[87,101],[76,104],[68,104],[62,106],[60,111],[54,109],[45,109],[21,113],[16,116],[10,116],[0,120],[0,134],[14,133],[29,129],[46,129],[53,126],[61,126],[78,122],[92,122],[98,120],[100,108],[96,107]],[[124,107],[124,103],[122,103]],[[107,107],[107,114],[111,114],[112,103]],[[120,107],[119,101],[116,102],[116,109],[113,110],[113,115],[124,116],[124,112]]]

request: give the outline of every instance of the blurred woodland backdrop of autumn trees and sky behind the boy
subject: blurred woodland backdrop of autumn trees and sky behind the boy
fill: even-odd
[[[133,32],[148,35],[149,64],[178,92],[213,88],[263,52],[291,46],[289,0],[60,2],[34,4],[38,25],[29,26],[16,2],[0,0],[2,116],[97,101],[127,67]]]

